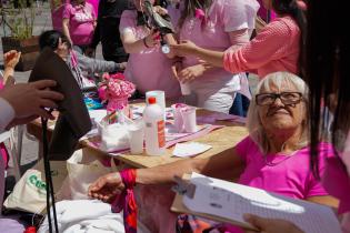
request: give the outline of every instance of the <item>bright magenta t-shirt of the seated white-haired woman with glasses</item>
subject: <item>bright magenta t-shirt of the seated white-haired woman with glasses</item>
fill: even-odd
[[[320,143],[319,149],[319,168],[322,174],[324,160],[333,152],[329,143]],[[246,162],[246,169],[239,179],[240,184],[302,200],[328,195],[321,182],[310,171],[308,146],[292,155],[268,154],[264,159],[259,146],[247,136],[236,145],[236,151]]]

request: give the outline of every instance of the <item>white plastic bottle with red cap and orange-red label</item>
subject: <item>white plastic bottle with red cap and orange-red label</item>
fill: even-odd
[[[164,113],[154,97],[150,97],[148,102],[143,111],[146,153],[162,155],[166,152]]]

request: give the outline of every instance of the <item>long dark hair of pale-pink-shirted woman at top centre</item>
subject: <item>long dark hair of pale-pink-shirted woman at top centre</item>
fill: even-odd
[[[179,29],[182,28],[186,18],[189,16],[194,17],[196,9],[202,9],[208,17],[208,10],[211,7],[213,0],[184,0],[184,8],[181,11],[181,16],[178,22]]]

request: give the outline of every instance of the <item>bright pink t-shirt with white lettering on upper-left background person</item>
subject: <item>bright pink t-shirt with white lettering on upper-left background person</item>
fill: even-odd
[[[93,37],[96,14],[89,2],[86,2],[83,7],[81,4],[67,3],[62,18],[69,19],[69,33],[73,44],[90,44]]]

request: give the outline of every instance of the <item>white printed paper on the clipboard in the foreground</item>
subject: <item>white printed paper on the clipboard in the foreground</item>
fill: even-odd
[[[293,222],[308,233],[341,233],[339,222],[328,206],[296,200],[263,190],[192,173],[193,199],[183,196],[183,204],[194,212],[208,213],[247,224],[242,215]]]

